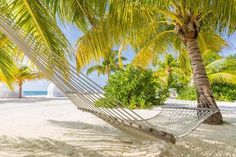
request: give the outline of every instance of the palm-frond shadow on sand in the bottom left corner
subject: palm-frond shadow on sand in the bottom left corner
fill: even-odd
[[[5,151],[24,157],[55,157],[55,156],[103,156],[97,151],[83,147],[76,147],[64,141],[51,138],[9,138],[0,137],[0,151]]]

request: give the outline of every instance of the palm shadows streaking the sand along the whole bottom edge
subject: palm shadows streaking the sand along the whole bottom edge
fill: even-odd
[[[209,131],[206,126],[195,132],[197,135],[178,139],[176,145],[173,145],[163,141],[142,141],[116,128],[105,125],[88,124],[78,121],[48,120],[48,122],[57,127],[61,136],[58,136],[56,139],[51,137],[12,138],[0,136],[0,156],[1,152],[24,157],[223,157],[227,153],[229,156],[233,156],[236,153],[236,145],[230,139],[226,140],[227,142],[223,142],[217,139],[213,140],[214,138],[202,137],[199,134],[200,132]],[[229,128],[226,129],[222,126],[222,129],[221,131],[226,133]],[[234,130],[234,128],[231,129]],[[207,134],[211,135],[213,132]]]

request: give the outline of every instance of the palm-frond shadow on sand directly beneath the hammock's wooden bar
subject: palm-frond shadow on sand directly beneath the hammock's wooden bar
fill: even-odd
[[[48,122],[65,128],[64,135],[76,137],[77,140],[84,141],[84,143],[102,143],[103,145],[104,143],[112,143],[114,145],[115,143],[140,144],[143,142],[142,139],[132,137],[119,129],[105,125],[56,120],[48,120]]]

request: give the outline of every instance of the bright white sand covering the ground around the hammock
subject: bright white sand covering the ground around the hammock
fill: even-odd
[[[64,98],[0,100],[0,157],[236,157],[236,104],[220,108],[226,124],[202,124],[173,145],[129,136]],[[157,110],[139,112],[150,116]]]

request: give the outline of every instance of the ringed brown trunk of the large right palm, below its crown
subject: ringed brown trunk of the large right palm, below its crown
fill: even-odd
[[[213,97],[210,82],[206,74],[206,69],[203,64],[197,38],[188,39],[185,41],[185,43],[189,52],[189,57],[193,69],[194,83],[198,93],[198,107],[218,109]],[[222,124],[223,119],[220,111],[210,116],[205,121],[205,123]]]

